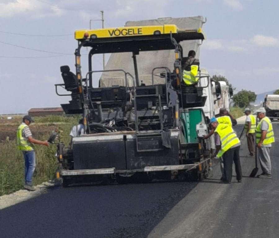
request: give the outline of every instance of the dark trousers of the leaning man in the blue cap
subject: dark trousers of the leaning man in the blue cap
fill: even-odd
[[[223,154],[224,173],[226,178],[225,182],[232,181],[232,162],[234,162],[235,165],[235,173],[237,174],[237,180],[241,180],[242,178],[241,165],[239,159],[239,148],[240,146],[237,146],[235,148],[227,150]]]

